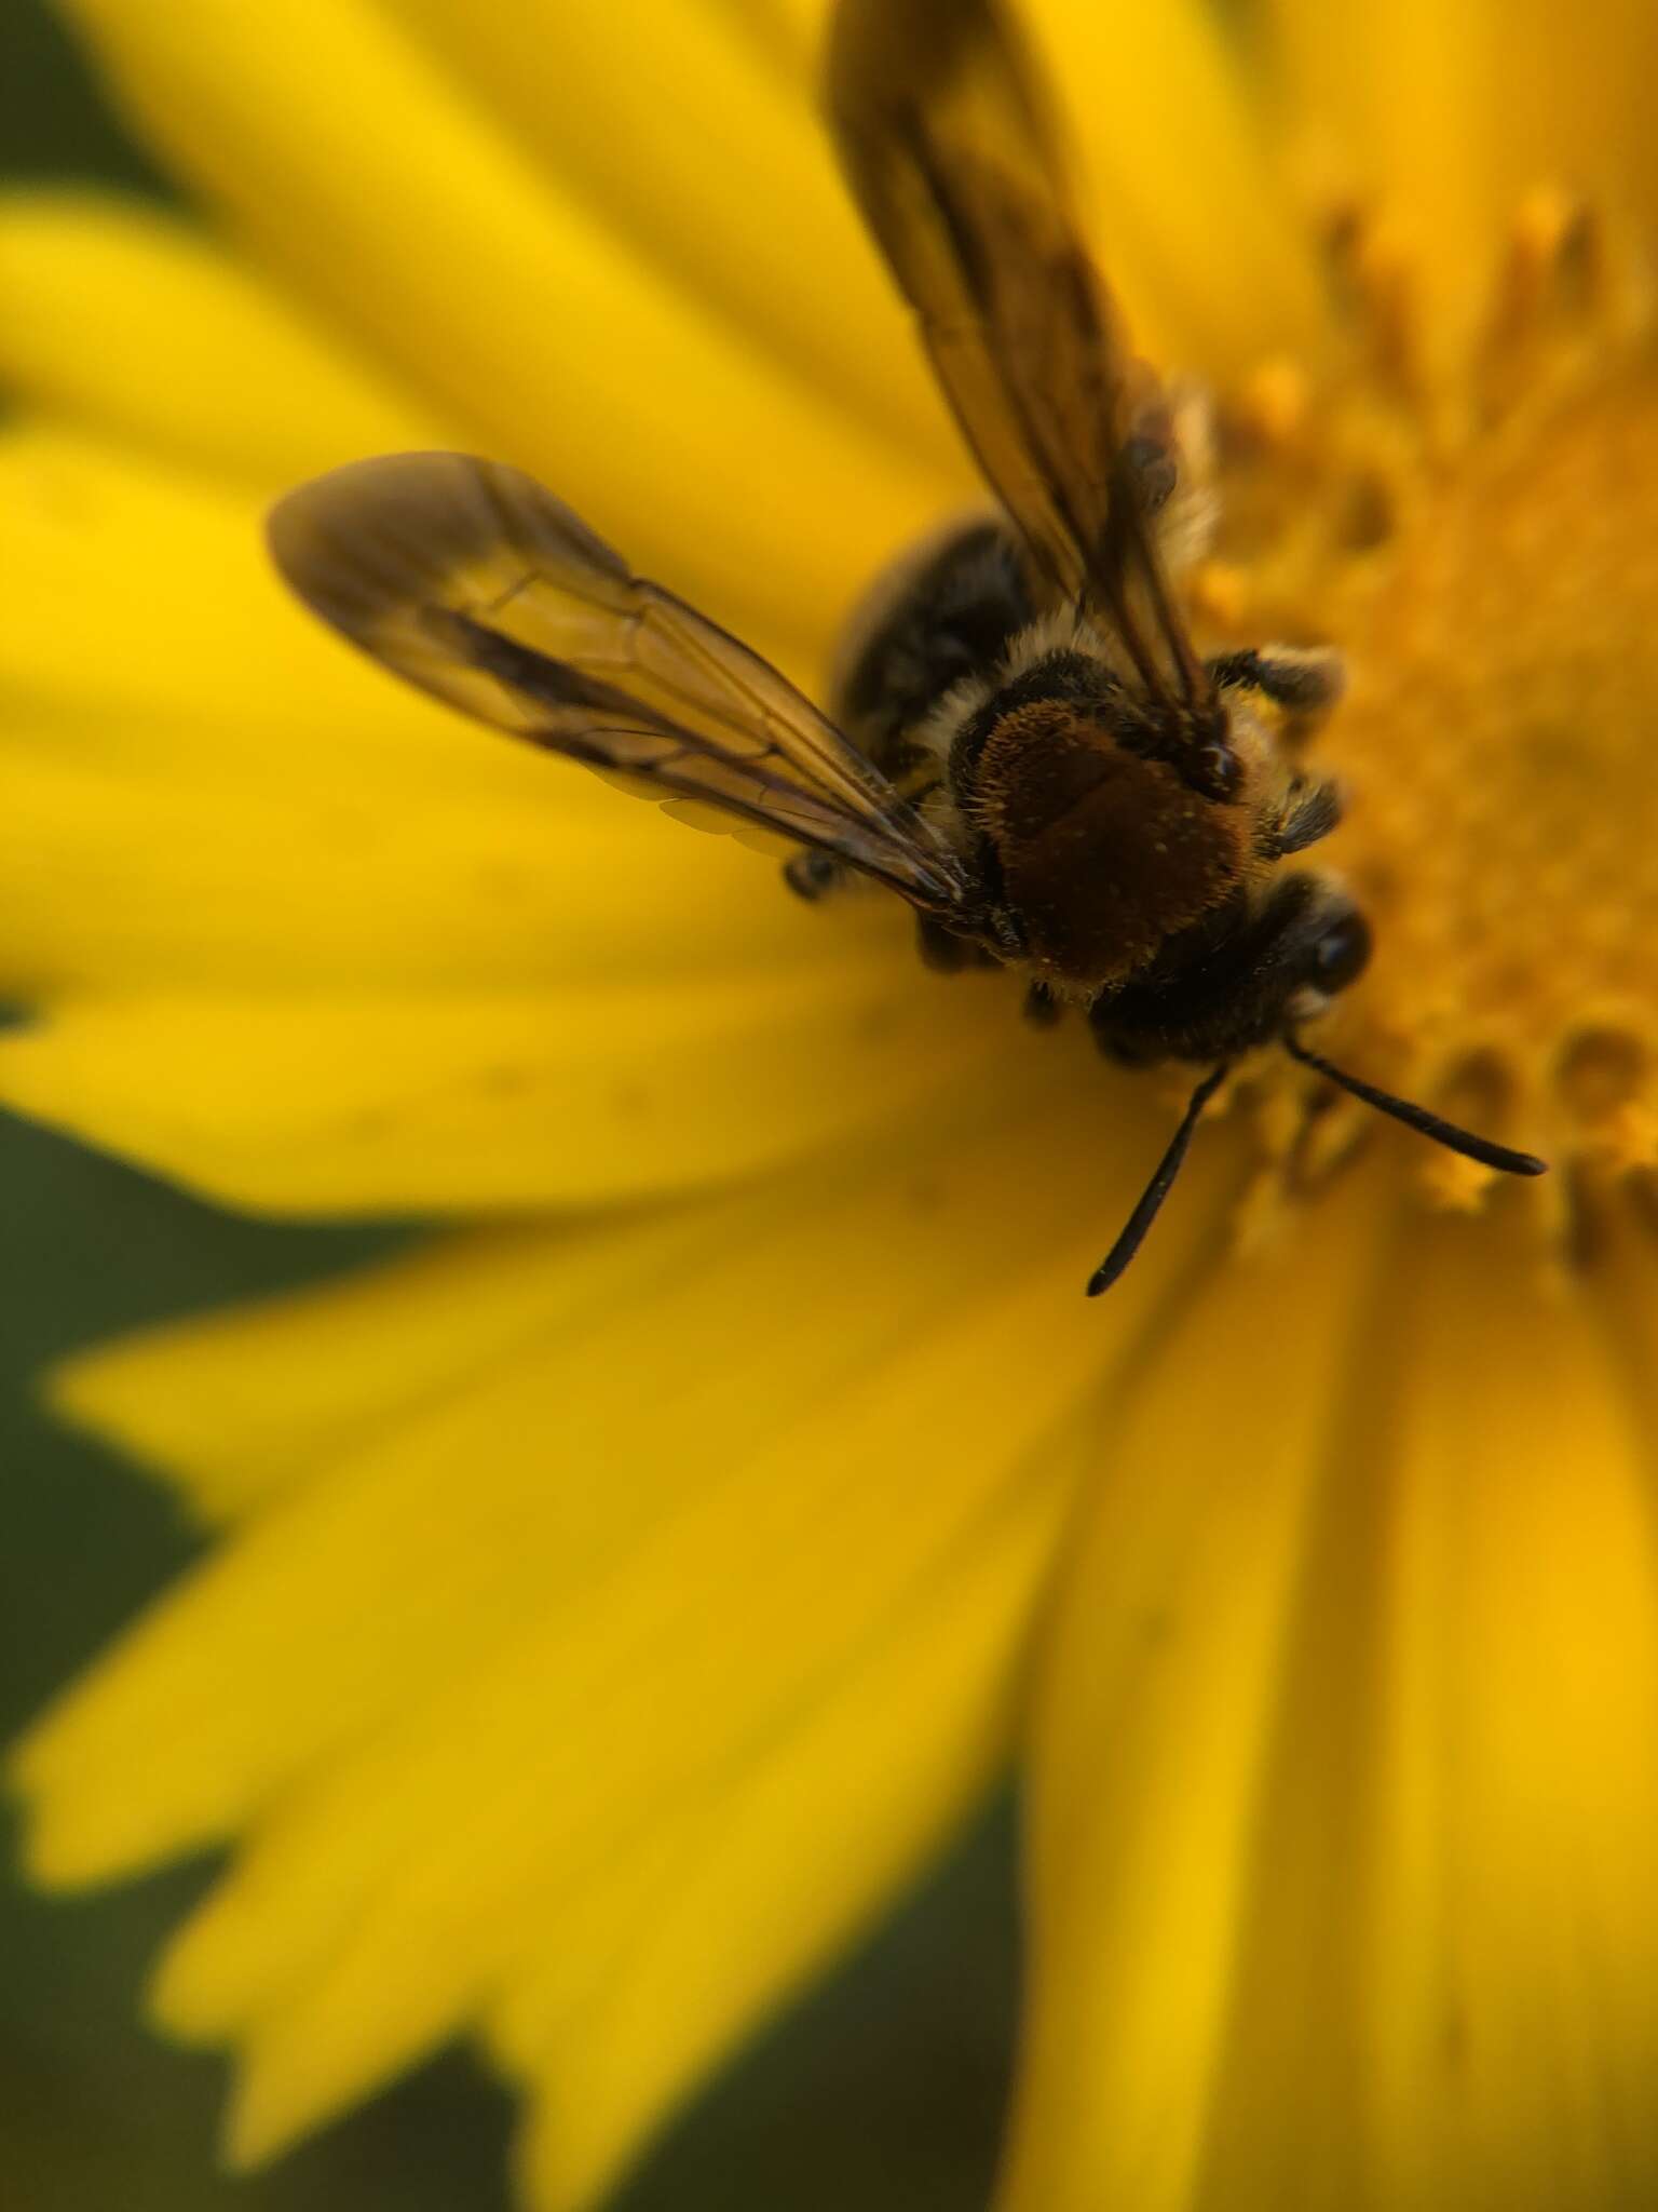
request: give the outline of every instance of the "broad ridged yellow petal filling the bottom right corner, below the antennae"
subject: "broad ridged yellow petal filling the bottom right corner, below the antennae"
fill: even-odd
[[[1046,1677],[1010,2208],[1658,2183],[1647,1455],[1594,1310],[1492,1234],[1417,1223],[1375,1303],[1349,1225],[1198,1316],[1238,1486],[1196,1533],[1176,1354],[1132,1405]],[[1295,1356],[1251,1402],[1260,1327]]]

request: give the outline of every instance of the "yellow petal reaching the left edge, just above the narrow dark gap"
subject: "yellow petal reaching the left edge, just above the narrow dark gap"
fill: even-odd
[[[900,938],[869,962],[672,989],[69,1000],[0,1037],[0,1097],[252,1210],[606,1203],[990,1088],[1026,1040],[986,982],[924,984]]]

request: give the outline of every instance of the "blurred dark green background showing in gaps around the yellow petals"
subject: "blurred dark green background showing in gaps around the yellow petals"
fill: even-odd
[[[166,190],[42,0],[0,0],[0,166],[9,186],[97,177]],[[35,1413],[40,1369],[139,1321],[347,1267],[396,1234],[416,1232],[237,1221],[0,1119],[7,1736],[195,1546],[159,1489]],[[504,2208],[511,2099],[464,2053],[267,2174],[217,2172],[219,2062],[139,2026],[146,1964],[206,1876],[69,1900],[0,1876],[7,2212]],[[831,1986],[710,2088],[617,2212],[977,2212],[1006,2095],[1015,1971],[1004,1805]]]

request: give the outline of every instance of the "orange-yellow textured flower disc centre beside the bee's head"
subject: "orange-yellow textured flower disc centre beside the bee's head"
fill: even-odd
[[[1649,365],[1424,462],[1333,613],[1353,688],[1320,748],[1377,922],[1366,1060],[1497,1071],[1528,1141],[1629,1164],[1658,1126],[1654,511]]]

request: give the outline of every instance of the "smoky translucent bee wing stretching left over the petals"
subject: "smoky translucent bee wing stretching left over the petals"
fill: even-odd
[[[360,460],[290,491],[267,529],[298,597],[422,690],[699,827],[818,845],[966,920],[955,854],[891,783],[758,653],[632,575],[517,469]]]

